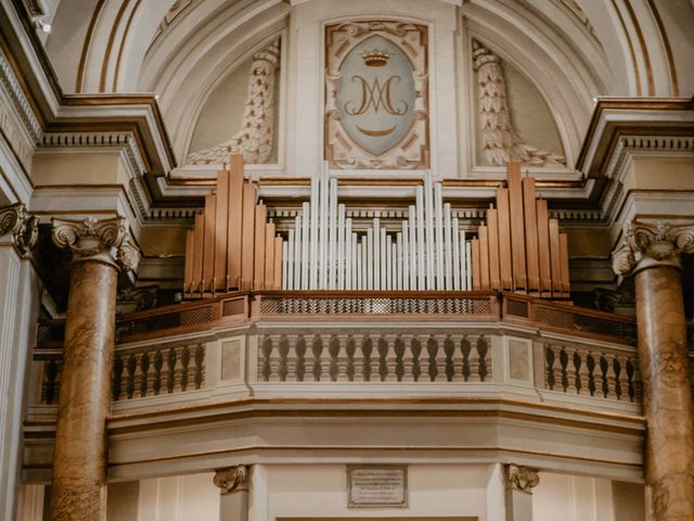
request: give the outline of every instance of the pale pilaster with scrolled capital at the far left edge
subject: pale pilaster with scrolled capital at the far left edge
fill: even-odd
[[[39,288],[29,260],[38,218],[23,204],[0,208],[0,519],[15,519],[24,389]]]

